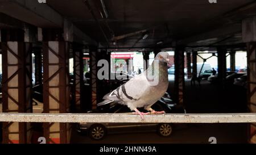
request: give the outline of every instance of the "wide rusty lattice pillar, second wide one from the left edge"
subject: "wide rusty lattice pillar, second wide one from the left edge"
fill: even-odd
[[[46,41],[43,43],[43,97],[45,113],[69,112],[68,43]],[[70,125],[44,123],[47,143],[69,143]]]

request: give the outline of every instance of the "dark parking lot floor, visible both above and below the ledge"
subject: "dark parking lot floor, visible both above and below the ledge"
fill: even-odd
[[[168,92],[174,93],[174,81],[170,78]],[[220,85],[202,81],[201,86],[191,86],[186,81],[185,107],[188,113],[228,113],[246,111],[246,90],[241,87]],[[181,126],[181,127],[180,127]],[[209,143],[216,137],[217,143],[247,143],[247,124],[176,124],[171,137],[160,137],[155,132],[122,133],[108,135],[102,141],[91,140],[86,135],[72,132],[72,143]]]

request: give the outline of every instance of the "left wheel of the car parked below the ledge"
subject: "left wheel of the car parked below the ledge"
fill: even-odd
[[[89,129],[89,136],[93,140],[102,140],[106,136],[106,128],[101,124],[92,125]]]

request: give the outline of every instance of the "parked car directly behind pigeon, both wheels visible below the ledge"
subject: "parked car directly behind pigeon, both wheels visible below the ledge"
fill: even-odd
[[[170,99],[166,93],[153,106],[157,111],[166,111],[166,113],[185,113],[183,107],[177,105]],[[146,112],[143,109],[140,111]],[[127,106],[117,103],[110,103],[100,106],[97,110],[88,111],[89,113],[128,113],[131,110]],[[108,133],[129,133],[129,132],[148,132],[157,131],[160,136],[171,136],[173,124],[169,123],[79,123],[77,132],[87,133],[93,140],[102,140]]]

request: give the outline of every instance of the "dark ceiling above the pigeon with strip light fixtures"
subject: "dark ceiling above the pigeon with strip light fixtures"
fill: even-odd
[[[218,0],[217,3],[209,3],[208,0],[103,1],[108,18],[101,16],[104,10],[100,0],[88,0],[99,24],[82,0],[47,0],[47,5],[73,22],[92,39],[113,48],[163,48],[175,44],[189,46],[240,44],[242,43],[241,20],[256,14],[256,2],[252,0]],[[6,6],[0,3],[5,13],[10,15],[16,12],[11,6]],[[19,15],[13,16],[19,20],[30,16],[26,14],[22,17],[20,9],[17,10],[16,13]],[[40,8],[38,10],[40,12]],[[41,20],[40,16],[36,18],[36,15],[31,15],[28,22],[38,27],[51,27],[54,21],[53,19]],[[113,36],[122,36],[141,30],[147,31],[116,40],[117,45],[112,43]],[[143,40],[142,37],[145,34],[149,36]],[[159,41],[163,43],[158,45]]]

